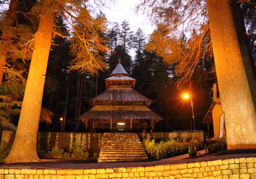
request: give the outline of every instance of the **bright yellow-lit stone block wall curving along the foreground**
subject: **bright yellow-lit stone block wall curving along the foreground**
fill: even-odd
[[[79,164],[78,164],[79,165]],[[256,157],[163,164],[149,167],[99,169],[1,169],[1,179],[78,179],[78,178],[256,178]]]

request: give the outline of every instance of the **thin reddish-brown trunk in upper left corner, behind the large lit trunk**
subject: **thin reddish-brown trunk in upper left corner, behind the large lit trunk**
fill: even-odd
[[[6,27],[2,31],[2,41],[1,41],[1,51],[0,51],[0,85],[3,81],[4,76],[4,69],[3,67],[6,65],[6,58],[7,54],[9,52],[10,47],[10,27],[13,26],[15,22],[15,13],[17,10],[18,1],[17,0],[11,0],[9,5],[9,10],[7,11],[6,15]]]

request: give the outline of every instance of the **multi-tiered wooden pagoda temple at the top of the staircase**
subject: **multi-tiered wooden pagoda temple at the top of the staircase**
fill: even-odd
[[[136,79],[120,63],[105,79],[106,91],[91,99],[92,108],[79,117],[85,130],[96,132],[142,132],[162,118],[149,109],[152,101],[134,90]]]

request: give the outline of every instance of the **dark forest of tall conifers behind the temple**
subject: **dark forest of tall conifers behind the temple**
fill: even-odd
[[[31,13],[36,3],[36,1],[20,1],[15,23],[12,23],[10,39],[13,46],[8,53],[0,87],[2,129],[15,129],[18,123],[31,58],[28,42],[38,25],[38,17]],[[255,59],[255,6],[241,4],[241,10],[247,27],[251,58]],[[2,12],[1,15],[3,32],[5,25],[3,19],[6,18],[6,14]],[[104,19],[104,15],[97,16],[103,19],[102,25],[107,27],[105,21],[107,19]],[[179,70],[182,65],[179,58],[172,63],[167,63],[164,55],[161,56],[151,48],[152,42],[156,41],[154,35],[164,34],[164,28],[157,26],[150,37],[146,37],[140,28],[132,32],[129,22],[124,20],[122,24],[113,23],[112,26],[108,26],[109,28],[98,32],[109,47],[105,53],[99,55],[100,60],[106,64],[102,66],[102,70],[94,71],[93,74],[89,73],[90,71],[81,73],[79,70],[71,70],[75,59],[70,50],[73,48],[71,41],[74,32],[70,30],[63,16],[57,13],[56,19],[39,131],[59,132],[61,126],[59,119],[64,117],[65,132],[83,132],[84,126],[78,117],[91,108],[90,99],[105,90],[104,79],[111,74],[119,59],[122,60],[122,65],[131,77],[137,79],[135,89],[152,99],[154,103],[151,109],[164,118],[156,124],[156,131],[192,130],[191,104],[181,97],[184,91],[189,90],[189,82],[192,84],[196,129],[207,131],[202,120],[212,103],[211,88],[216,82],[211,51],[203,54],[197,66],[193,67],[191,75],[186,76]],[[194,47],[201,35],[195,28],[190,34],[183,33],[178,40],[176,36],[169,38],[177,40],[176,44],[179,44],[180,49],[186,54]],[[1,41],[4,41],[3,38],[2,34]],[[209,41],[210,37],[206,38],[200,46],[204,48]],[[135,51],[134,56],[129,55],[131,49]]]

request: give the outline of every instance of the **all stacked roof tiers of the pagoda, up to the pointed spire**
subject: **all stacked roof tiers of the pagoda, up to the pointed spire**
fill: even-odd
[[[130,77],[120,63],[105,79],[106,91],[91,99],[93,108],[80,119],[154,119],[162,118],[151,111],[152,101],[134,90],[136,79]]]

